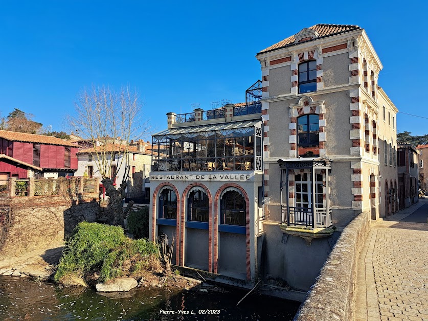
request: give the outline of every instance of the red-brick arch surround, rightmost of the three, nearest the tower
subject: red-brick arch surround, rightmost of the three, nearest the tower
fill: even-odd
[[[213,242],[214,242],[214,253],[213,253],[213,260],[214,260],[214,273],[217,273],[217,264],[218,264],[218,240],[217,240],[217,234],[218,234],[218,201],[220,198],[221,192],[223,190],[227,189],[228,187],[234,187],[242,192],[242,195],[244,196],[245,200],[245,247],[246,247],[246,279],[251,279],[251,269],[250,269],[250,199],[248,198],[248,195],[246,194],[245,190],[242,186],[236,183],[226,183],[220,186],[220,188],[217,190],[214,196],[214,231],[213,231]]]

